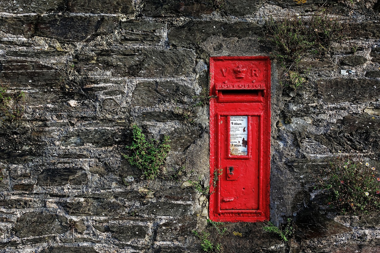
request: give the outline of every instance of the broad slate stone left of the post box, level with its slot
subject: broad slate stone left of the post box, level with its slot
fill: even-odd
[[[133,106],[156,106],[162,103],[188,104],[195,91],[174,81],[139,82],[132,93]]]

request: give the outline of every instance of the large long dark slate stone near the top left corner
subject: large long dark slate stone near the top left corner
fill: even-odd
[[[42,16],[38,18],[36,35],[60,42],[90,41],[106,35],[119,26],[118,17]]]

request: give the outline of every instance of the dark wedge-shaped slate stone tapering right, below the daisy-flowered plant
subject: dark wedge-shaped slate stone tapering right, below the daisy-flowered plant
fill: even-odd
[[[296,235],[303,239],[324,238],[352,231],[352,228],[311,211],[302,212],[295,224]]]

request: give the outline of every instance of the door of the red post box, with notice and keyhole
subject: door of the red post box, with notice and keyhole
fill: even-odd
[[[258,116],[222,116],[220,119],[220,168],[223,169],[220,178],[220,209],[222,210],[258,209],[258,118]],[[245,151],[245,148],[247,153],[241,152]]]

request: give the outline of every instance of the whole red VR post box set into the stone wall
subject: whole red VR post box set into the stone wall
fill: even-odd
[[[270,73],[268,57],[210,58],[213,221],[269,220]]]

